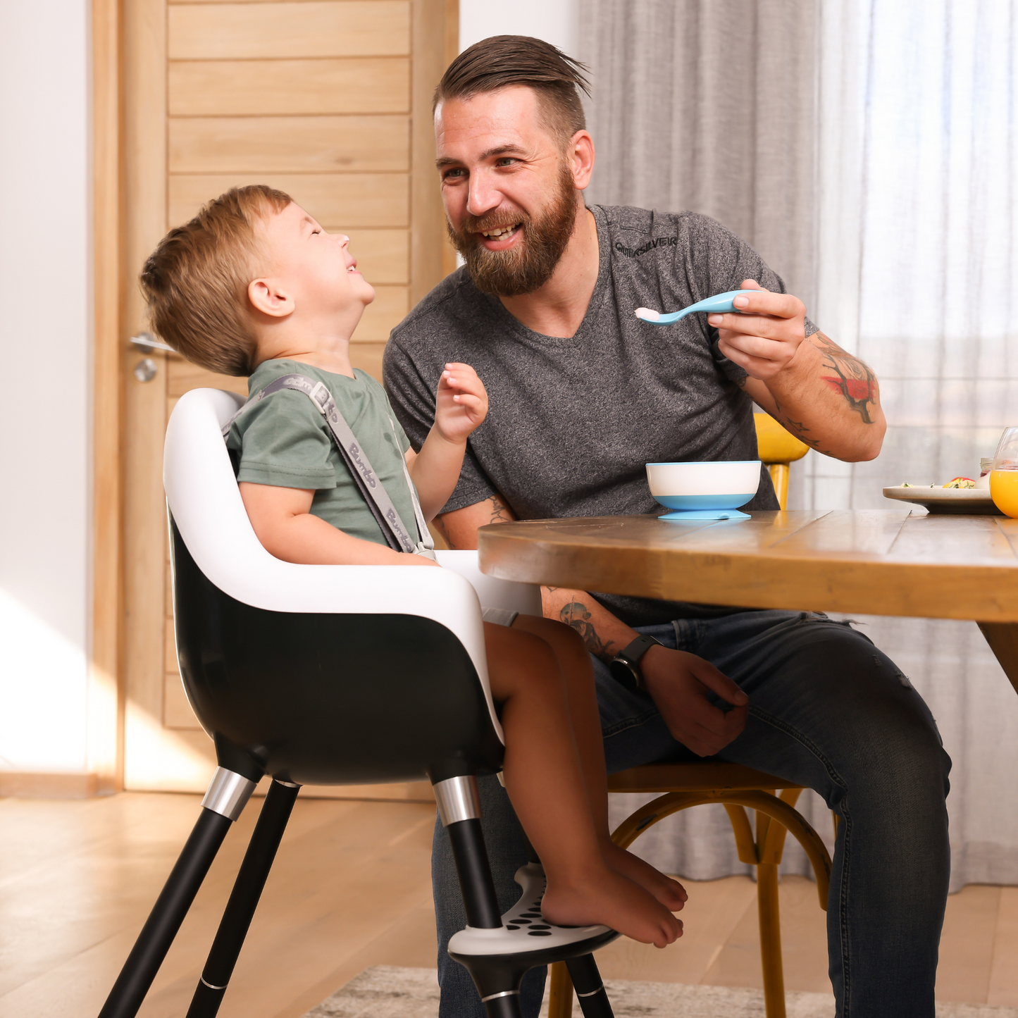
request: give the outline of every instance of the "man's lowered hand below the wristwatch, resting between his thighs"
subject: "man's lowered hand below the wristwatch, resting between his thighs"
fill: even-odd
[[[675,739],[697,756],[713,756],[746,727],[749,697],[709,661],[685,651],[652,646],[640,659],[646,691]],[[733,704],[721,711],[715,693]]]

